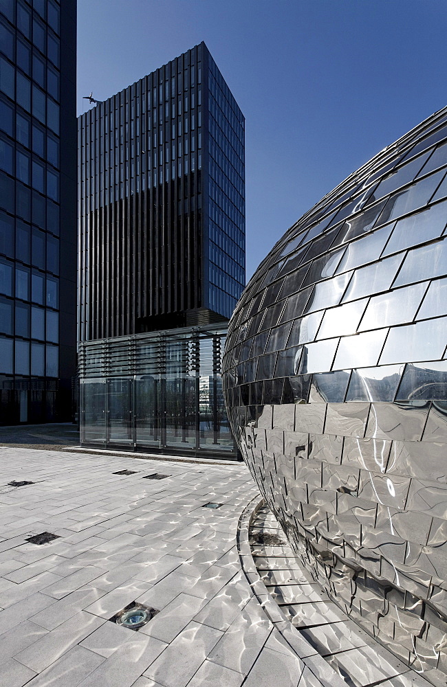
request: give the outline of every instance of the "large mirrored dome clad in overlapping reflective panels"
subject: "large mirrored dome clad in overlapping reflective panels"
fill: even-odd
[[[285,233],[243,292],[223,357],[232,430],[296,554],[436,685],[447,680],[446,225],[447,108]]]

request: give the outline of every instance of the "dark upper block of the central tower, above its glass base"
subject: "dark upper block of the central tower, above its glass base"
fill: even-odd
[[[204,43],[78,118],[80,340],[228,319],[244,119]]]

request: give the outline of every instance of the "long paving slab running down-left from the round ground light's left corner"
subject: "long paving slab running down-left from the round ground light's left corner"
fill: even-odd
[[[27,649],[18,653],[16,659],[36,673],[41,673],[87,635],[100,627],[102,622],[105,621],[97,616],[91,616],[90,613],[80,611],[76,613],[76,616],[69,618],[40,640],[28,646]]]

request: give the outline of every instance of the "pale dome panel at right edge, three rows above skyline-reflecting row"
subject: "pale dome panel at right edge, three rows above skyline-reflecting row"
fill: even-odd
[[[447,274],[446,239],[408,251],[393,286],[403,286],[445,274]]]

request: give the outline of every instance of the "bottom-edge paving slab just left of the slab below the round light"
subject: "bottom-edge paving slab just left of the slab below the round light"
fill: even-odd
[[[77,687],[102,662],[104,658],[97,653],[74,646],[34,677],[32,687]]]

